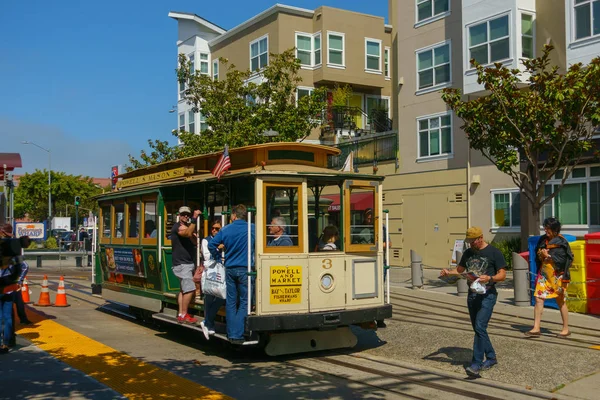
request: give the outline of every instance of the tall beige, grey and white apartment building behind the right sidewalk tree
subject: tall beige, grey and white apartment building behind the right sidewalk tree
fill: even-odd
[[[469,225],[488,240],[516,235],[527,208],[512,180],[469,149],[440,91],[483,96],[469,59],[523,68],[545,43],[562,70],[589,62],[600,54],[600,0],[390,0],[389,20],[400,140],[398,171],[382,170],[386,206],[397,216],[391,264],[408,265],[413,249],[425,264],[447,266]],[[576,235],[600,230],[599,180],[600,166],[576,169],[542,216],[557,216]]]

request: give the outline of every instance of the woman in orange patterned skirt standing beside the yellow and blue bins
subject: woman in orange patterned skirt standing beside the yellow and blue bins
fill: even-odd
[[[560,234],[561,223],[556,218],[546,218],[543,226],[546,234],[540,237],[535,247],[538,271],[534,291],[533,328],[525,332],[525,336],[539,337],[541,335],[544,300],[556,299],[563,321],[562,330],[556,337],[566,338],[571,335],[565,294],[571,281],[569,269],[573,263],[573,252],[567,239]]]

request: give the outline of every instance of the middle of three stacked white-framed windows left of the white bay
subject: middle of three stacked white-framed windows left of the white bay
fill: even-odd
[[[450,82],[450,43],[417,50],[417,89]]]

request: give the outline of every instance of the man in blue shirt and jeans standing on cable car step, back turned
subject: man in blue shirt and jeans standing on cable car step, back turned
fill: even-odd
[[[227,337],[234,344],[244,343],[245,320],[248,315],[248,211],[246,206],[233,207],[231,223],[225,225],[208,243],[208,250],[219,259],[225,251],[227,300]],[[254,267],[254,225],[250,234],[250,262]]]

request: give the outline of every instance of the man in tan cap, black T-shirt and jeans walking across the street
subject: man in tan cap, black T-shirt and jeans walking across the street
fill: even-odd
[[[481,370],[490,369],[498,363],[487,327],[498,298],[496,283],[506,278],[506,261],[500,250],[483,239],[483,232],[479,227],[474,226],[467,230],[465,243],[469,244],[469,249],[465,251],[456,268],[443,269],[440,276],[460,275],[466,272],[471,287],[467,296],[467,307],[475,332],[473,358],[466,372],[469,376],[479,376]]]

